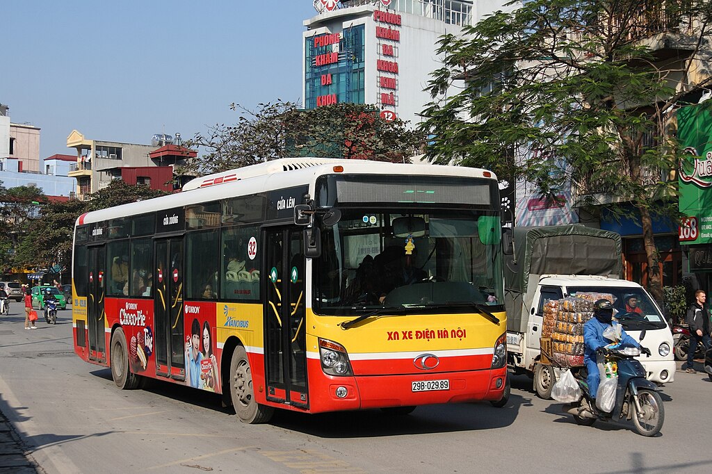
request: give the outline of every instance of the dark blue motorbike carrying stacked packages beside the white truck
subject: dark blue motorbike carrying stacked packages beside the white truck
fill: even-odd
[[[644,332],[641,334],[641,339]],[[645,369],[634,357],[641,349],[630,344],[602,349],[607,361],[617,364],[618,381],[613,409],[607,413],[595,406],[588,391],[586,367],[574,374],[582,391],[582,398],[571,408],[566,409],[579,425],[591,426],[595,421],[632,421],[635,431],[642,436],[655,436],[659,433],[665,420],[665,409],[657,386],[645,378]],[[648,349],[643,352],[650,354]]]

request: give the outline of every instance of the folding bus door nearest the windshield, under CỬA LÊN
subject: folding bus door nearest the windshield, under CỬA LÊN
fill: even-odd
[[[306,370],[306,311],[303,230],[266,231],[265,370],[267,399],[309,406]]]

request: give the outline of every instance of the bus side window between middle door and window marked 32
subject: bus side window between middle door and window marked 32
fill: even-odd
[[[220,234],[214,231],[192,232],[185,236],[187,300],[212,300],[217,296],[219,238]]]

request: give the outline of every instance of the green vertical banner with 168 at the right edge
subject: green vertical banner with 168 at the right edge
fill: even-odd
[[[680,243],[712,243],[712,114],[699,105],[677,112],[684,157],[678,167]]]

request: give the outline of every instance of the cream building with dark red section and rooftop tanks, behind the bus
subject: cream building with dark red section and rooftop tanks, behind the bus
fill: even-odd
[[[77,180],[77,198],[88,199],[115,179],[172,191],[173,166],[184,164],[197,152],[172,144],[172,137],[166,139],[169,135],[156,137],[150,145],[121,143],[86,139],[73,130],[67,137],[67,147],[77,153],[68,175]]]

